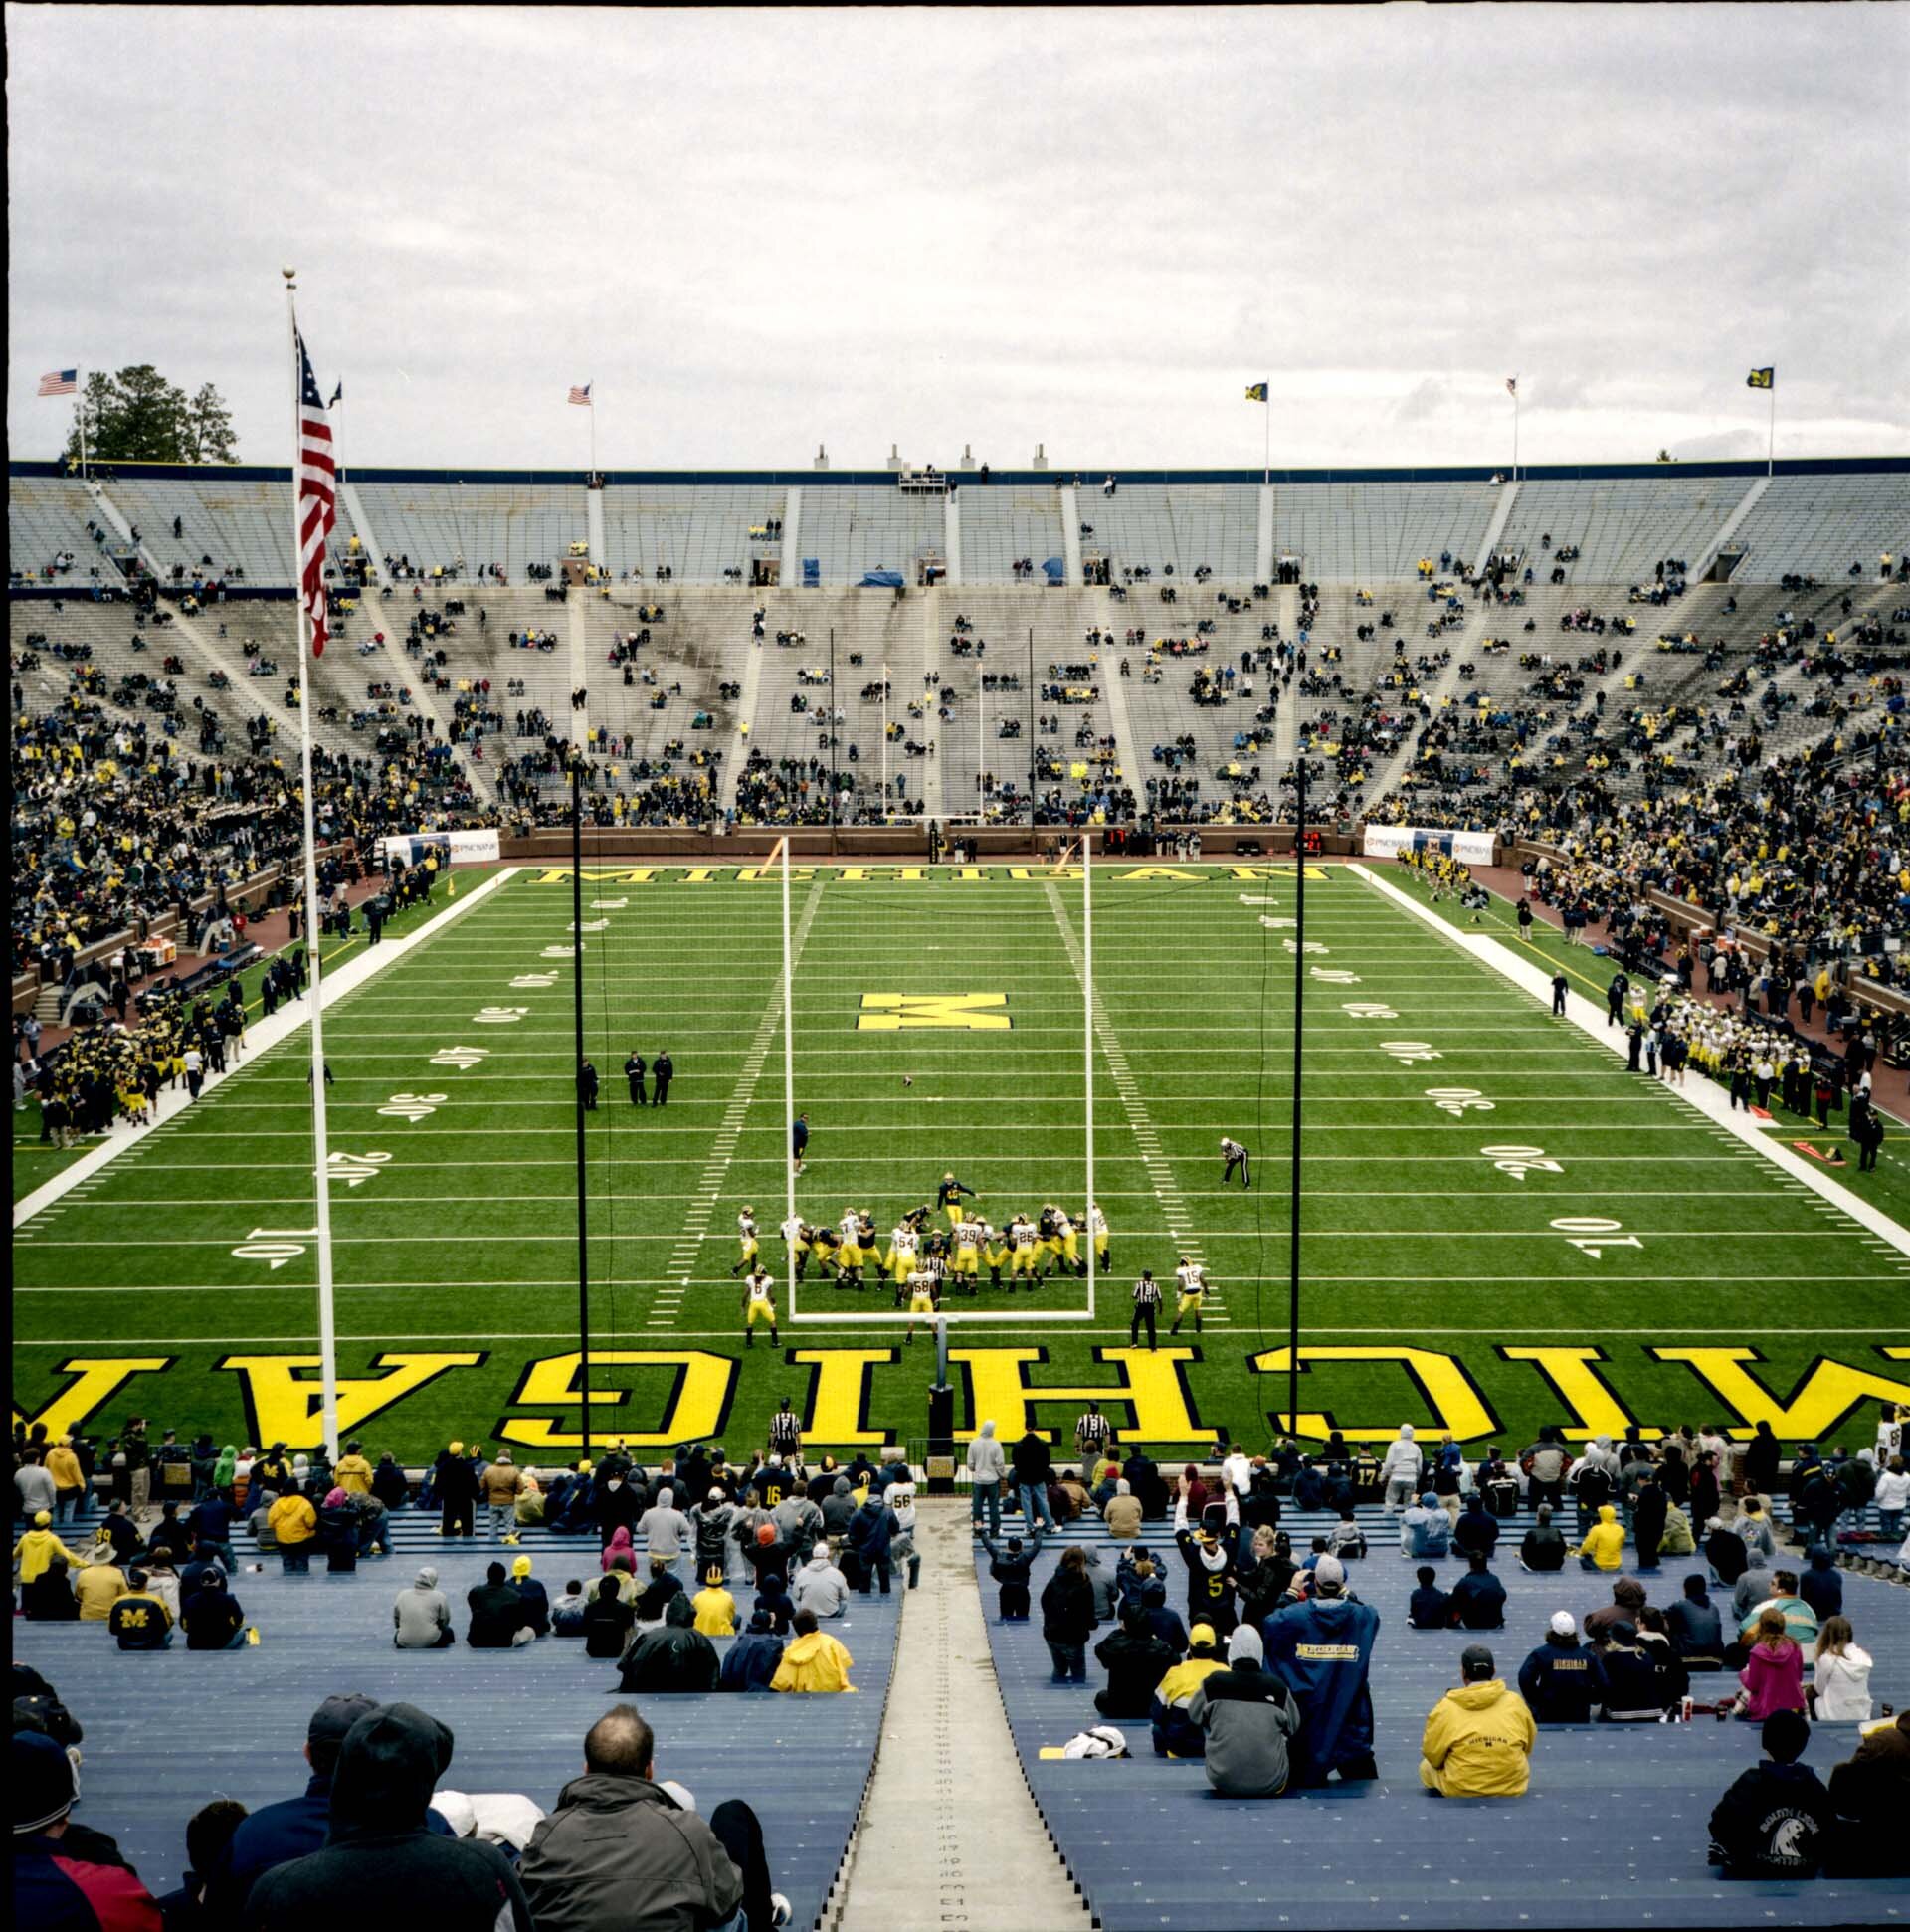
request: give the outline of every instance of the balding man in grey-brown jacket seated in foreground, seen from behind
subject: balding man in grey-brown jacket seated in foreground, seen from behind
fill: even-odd
[[[560,1932],[786,1924],[755,1812],[728,1799],[705,1824],[686,1791],[657,1781],[655,1752],[628,1704],[591,1725],[583,1776],[564,1785],[518,1868],[537,1922]]]

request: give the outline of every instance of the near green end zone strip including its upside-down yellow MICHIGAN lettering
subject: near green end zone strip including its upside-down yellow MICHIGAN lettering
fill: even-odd
[[[1589,1341],[1499,1343],[1464,1356],[1418,1343],[1307,1345],[1300,1349],[1300,1414],[1288,1418],[1290,1356],[1282,1349],[1205,1356],[1199,1345],[1161,1349],[1101,1345],[1085,1362],[1060,1366],[1039,1345],[952,1347],[956,1437],[993,1420],[1016,1441],[1027,1430],[1072,1445],[1089,1403],[1124,1443],[1157,1449],[1211,1447],[1219,1432],[1261,1447],[1271,1435],[1387,1443],[1400,1422],[1450,1430],[1462,1443],[1499,1441],[1516,1451],[1557,1422],[1572,1439],[1659,1430],[1680,1420],[1721,1420],[1738,1439],[1769,1422],[1781,1441],[1837,1441],[1854,1416],[1869,1439],[1871,1405],[1910,1406],[1910,1341],[1846,1347],[1842,1356],[1792,1358],[1781,1372],[1752,1341],[1653,1343],[1620,1358]],[[632,1449],[680,1441],[761,1447],[749,1432],[767,1414],[765,1381],[738,1406],[744,1376],[774,1378],[794,1397],[803,1439],[815,1449],[877,1449],[919,1439],[929,1397],[898,1347],[790,1347],[749,1364],[713,1349],[593,1349],[591,1441]],[[1900,1366],[1902,1364],[1902,1366]],[[319,1356],[280,1352],[56,1354],[15,1399],[14,1424],[48,1435],[110,1434],[129,1414],[151,1414],[182,1437],[201,1428],[214,1441],[315,1449],[321,1443]],[[342,1435],[377,1424],[409,1461],[425,1461],[450,1435],[568,1461],[583,1447],[581,1356],[564,1350],[523,1358],[485,1349],[361,1349],[340,1360]],[[1506,1416],[1514,1416],[1508,1432]],[[456,1428],[446,1430],[446,1420]]]

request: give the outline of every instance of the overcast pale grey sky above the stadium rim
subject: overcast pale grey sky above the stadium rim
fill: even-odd
[[[1910,8],[10,6],[8,435],[286,462],[1910,450]],[[1891,129],[1896,129],[1893,135]]]

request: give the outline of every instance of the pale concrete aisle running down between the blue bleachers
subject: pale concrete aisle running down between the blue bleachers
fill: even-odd
[[[958,1497],[923,1497],[875,1779],[832,1932],[1091,1924],[1014,1754]],[[902,1578],[898,1577],[898,1582]]]

